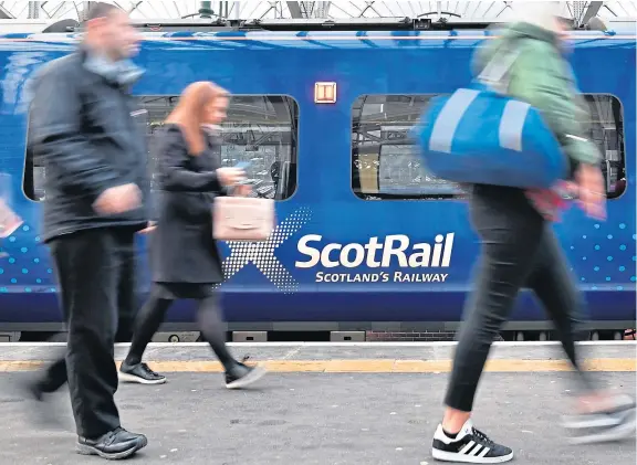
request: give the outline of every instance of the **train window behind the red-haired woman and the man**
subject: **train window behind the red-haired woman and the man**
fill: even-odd
[[[164,120],[177,104],[178,96],[138,97],[143,115],[138,120],[146,133],[152,171],[155,172],[158,137]],[[250,161],[248,177],[257,195],[284,200],[296,190],[299,106],[289,96],[236,95],[230,99],[228,118],[220,127],[221,166],[232,167]],[[31,200],[43,200],[44,168],[33,159],[28,144],[24,193]],[[153,182],[156,188],[155,182]]]

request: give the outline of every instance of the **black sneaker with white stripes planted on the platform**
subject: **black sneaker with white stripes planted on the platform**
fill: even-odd
[[[484,433],[476,430],[471,420],[468,420],[453,438],[445,434],[441,424],[438,425],[434,434],[431,455],[442,462],[501,464],[513,458],[513,451],[495,444]]]

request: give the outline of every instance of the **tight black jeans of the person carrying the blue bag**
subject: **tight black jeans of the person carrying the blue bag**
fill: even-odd
[[[531,288],[553,319],[583,385],[592,383],[575,353],[583,308],[575,279],[550,224],[519,189],[476,186],[470,203],[481,256],[473,295],[460,329],[446,403],[470,412],[487,357],[522,287]]]

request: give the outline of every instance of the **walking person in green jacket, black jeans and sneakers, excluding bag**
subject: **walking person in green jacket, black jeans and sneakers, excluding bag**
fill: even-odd
[[[493,59],[520,52],[509,71],[508,94],[542,110],[571,160],[572,188],[582,208],[589,216],[604,219],[599,154],[586,138],[586,106],[576,94],[571,67],[563,56],[558,3],[534,2],[520,8],[521,22],[487,41],[476,56],[474,72],[480,74]],[[515,2],[515,9],[520,4]],[[521,287],[533,289],[550,314],[583,388],[577,414],[566,420],[566,426],[583,433],[579,442],[634,434],[634,401],[599,393],[576,357],[578,317],[584,304],[551,226],[561,202],[562,198],[551,190],[473,187],[470,215],[481,240],[481,256],[476,290],[459,334],[445,418],[434,435],[432,455],[437,459],[487,464],[513,458],[510,447],[494,443],[473,427],[471,411],[491,344],[511,314]]]

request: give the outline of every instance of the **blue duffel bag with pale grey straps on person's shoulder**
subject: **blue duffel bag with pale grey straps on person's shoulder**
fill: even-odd
[[[540,112],[505,95],[518,54],[498,56],[469,87],[429,102],[413,135],[434,176],[523,189],[565,179],[567,157]]]

